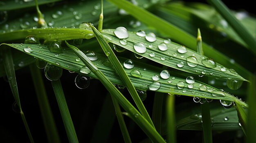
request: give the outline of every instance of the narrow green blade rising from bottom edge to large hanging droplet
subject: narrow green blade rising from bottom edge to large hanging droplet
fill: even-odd
[[[56,81],[51,81],[51,83],[52,83],[52,88],[54,90],[54,93],[58,102],[58,107],[61,112],[61,117],[65,126],[67,138],[70,143],[78,143],[76,130],[74,128],[74,125],[70,116],[70,112],[67,107],[67,102],[61,86],[61,81],[60,79],[58,79]]]

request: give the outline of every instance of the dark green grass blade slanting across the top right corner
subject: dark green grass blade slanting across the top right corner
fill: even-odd
[[[245,29],[245,27],[231,14],[230,10],[220,0],[207,0],[213,7],[227,20],[232,28],[238,33],[241,39],[243,39],[251,51],[256,55],[256,40],[254,37]]]

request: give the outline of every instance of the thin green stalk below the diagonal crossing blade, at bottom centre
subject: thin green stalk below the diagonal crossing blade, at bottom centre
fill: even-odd
[[[127,128],[126,128],[126,124],[124,122],[124,116],[123,116],[123,114],[121,112],[119,103],[118,103],[117,99],[115,99],[115,97],[113,95],[111,95],[111,98],[112,98],[112,101],[113,101],[113,105],[115,107],[115,113],[117,115],[117,120],[118,120],[120,129],[121,129],[123,138],[124,138],[124,142],[125,143],[132,143],[132,141],[130,139],[130,136],[129,136],[129,132],[128,132]]]

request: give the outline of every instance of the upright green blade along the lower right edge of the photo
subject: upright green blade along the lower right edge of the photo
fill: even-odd
[[[246,141],[247,143],[255,143],[256,142],[256,77],[253,76],[250,79],[251,84],[249,85],[249,90],[248,90],[248,118],[247,118],[247,127],[246,127],[246,132],[247,132],[247,138]]]

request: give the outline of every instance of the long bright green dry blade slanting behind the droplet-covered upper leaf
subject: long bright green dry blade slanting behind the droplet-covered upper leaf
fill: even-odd
[[[196,50],[196,38],[186,33],[182,29],[177,28],[176,26],[170,24],[169,22],[166,22],[165,20],[162,20],[161,18],[149,13],[144,9],[134,6],[126,0],[109,1],[116,4],[118,7],[126,10],[128,13],[130,13],[141,22],[147,24],[148,26],[153,26],[155,29],[157,29],[157,31],[168,35],[171,39],[174,39],[177,42],[182,43],[185,46],[192,48],[193,50]],[[216,51],[204,42],[202,43],[202,46],[205,50],[204,55],[215,59],[216,62],[222,64],[223,66],[229,66],[229,58],[226,55]],[[233,68],[245,78],[248,78],[248,75],[252,75],[252,73],[250,73],[248,70],[238,64],[234,64]]]

